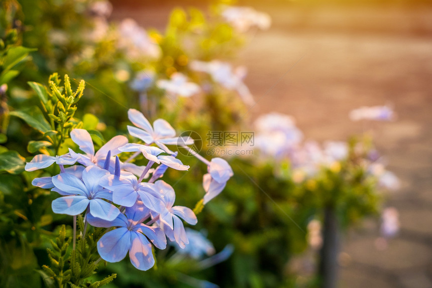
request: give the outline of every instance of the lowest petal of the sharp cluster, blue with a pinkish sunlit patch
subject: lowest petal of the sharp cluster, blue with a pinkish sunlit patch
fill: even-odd
[[[139,270],[146,271],[153,267],[155,259],[152,253],[152,244],[147,238],[139,233],[131,233],[131,247],[129,250],[129,258],[131,263]]]

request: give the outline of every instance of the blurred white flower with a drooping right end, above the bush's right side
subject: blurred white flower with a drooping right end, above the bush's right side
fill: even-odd
[[[210,62],[195,60],[190,63],[190,68],[195,71],[208,73],[214,82],[221,84],[227,89],[237,91],[245,104],[255,104],[249,88],[243,82],[247,73],[246,67],[239,66],[233,69],[229,63],[219,60]]]

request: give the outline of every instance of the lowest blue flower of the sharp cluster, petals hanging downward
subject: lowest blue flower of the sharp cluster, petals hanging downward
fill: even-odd
[[[89,216],[88,223],[95,227],[118,227],[97,241],[100,257],[108,262],[119,262],[129,251],[129,258],[136,268],[148,270],[153,267],[155,259],[150,241],[157,248],[165,249],[166,237],[159,227],[142,223],[143,219],[149,216],[150,210],[139,201],[135,206],[126,208],[125,214],[119,214],[113,221]]]

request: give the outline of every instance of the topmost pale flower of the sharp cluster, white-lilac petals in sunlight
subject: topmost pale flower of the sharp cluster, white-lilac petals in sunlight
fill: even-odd
[[[136,109],[129,109],[128,116],[129,120],[136,126],[128,125],[129,133],[132,136],[140,138],[148,145],[155,143],[166,153],[173,154],[166,145],[177,145],[179,137],[175,137],[175,130],[167,121],[156,119],[152,126],[143,113]],[[184,145],[191,145],[193,139],[183,138],[180,142]]]

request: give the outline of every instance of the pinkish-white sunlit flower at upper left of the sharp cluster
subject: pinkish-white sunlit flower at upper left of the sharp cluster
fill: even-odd
[[[72,157],[79,158],[78,163],[84,166],[96,165],[103,167],[105,163],[106,155],[111,151],[111,157],[120,154],[119,147],[125,146],[128,143],[128,138],[122,135],[113,137],[110,141],[106,142],[99,151],[94,153],[93,141],[91,140],[90,133],[85,129],[73,129],[70,132],[70,137],[74,141],[81,151],[85,154],[77,154],[73,150],[69,149],[69,153]]]

